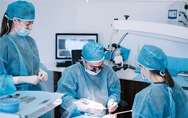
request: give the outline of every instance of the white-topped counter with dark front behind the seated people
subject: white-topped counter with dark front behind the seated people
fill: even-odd
[[[61,77],[62,71],[65,69],[64,67],[56,67],[55,64],[45,64],[49,71],[53,71],[54,73],[54,91],[57,90],[57,81]],[[117,76],[120,78],[121,82],[121,100],[126,101],[128,106],[126,108],[120,107],[118,111],[130,110],[133,105],[134,97],[137,92],[147,87],[149,84],[145,83],[140,74],[134,72],[134,70],[120,70],[117,71]],[[180,84],[182,87],[188,88],[188,77],[174,77],[174,80]],[[188,94],[188,90],[186,89],[186,93]],[[60,118],[58,113],[58,109],[55,111],[55,118]],[[131,118],[131,113],[122,114],[118,116],[118,118]]]

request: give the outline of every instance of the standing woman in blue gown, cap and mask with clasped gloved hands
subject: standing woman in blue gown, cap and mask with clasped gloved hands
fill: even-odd
[[[8,5],[0,32],[0,96],[17,90],[42,90],[48,75],[40,63],[35,40],[29,36],[35,7],[26,1]]]

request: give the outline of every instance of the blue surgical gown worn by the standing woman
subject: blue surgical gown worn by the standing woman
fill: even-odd
[[[8,34],[0,38],[0,95],[16,90],[41,90],[40,84],[14,85],[13,76],[37,75],[40,58],[35,40],[30,36]]]

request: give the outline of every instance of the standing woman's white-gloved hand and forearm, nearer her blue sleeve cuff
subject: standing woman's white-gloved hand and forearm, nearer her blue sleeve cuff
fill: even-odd
[[[13,77],[14,84],[30,83],[36,85],[39,81],[40,81],[40,77],[37,75]]]

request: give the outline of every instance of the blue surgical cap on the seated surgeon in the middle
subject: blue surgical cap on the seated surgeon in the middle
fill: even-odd
[[[96,42],[85,44],[82,48],[82,56],[90,63],[96,63],[104,60],[103,45]]]

